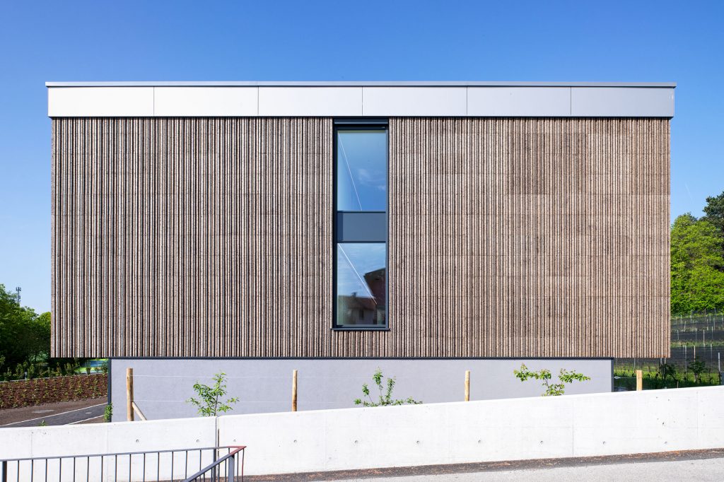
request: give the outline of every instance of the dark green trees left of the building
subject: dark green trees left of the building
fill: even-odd
[[[46,359],[50,353],[50,313],[22,307],[0,284],[0,356],[5,365]]]

